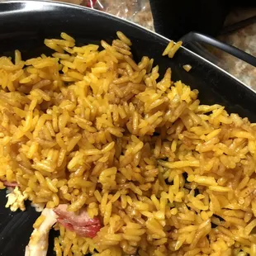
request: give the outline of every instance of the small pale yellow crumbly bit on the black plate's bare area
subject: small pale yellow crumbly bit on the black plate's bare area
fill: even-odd
[[[7,204],[6,208],[10,207],[11,211],[25,211],[26,207],[24,201],[26,201],[27,195],[22,194],[19,187],[15,187],[14,190],[7,194]]]

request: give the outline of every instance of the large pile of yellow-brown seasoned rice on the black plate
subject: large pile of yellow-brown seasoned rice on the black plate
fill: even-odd
[[[159,80],[117,36],[0,58],[0,179],[100,218],[93,239],[55,225],[57,255],[256,255],[255,124],[200,105],[170,69]]]

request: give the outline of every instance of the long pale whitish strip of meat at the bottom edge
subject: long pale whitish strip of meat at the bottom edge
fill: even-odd
[[[57,215],[52,209],[45,208],[41,215],[45,218],[31,235],[29,244],[26,246],[25,256],[46,256],[48,250],[49,231],[57,221]]]

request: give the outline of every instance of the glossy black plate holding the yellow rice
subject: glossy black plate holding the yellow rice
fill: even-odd
[[[171,28],[170,28],[171,29]],[[59,37],[60,32],[74,36],[79,45],[111,41],[116,31],[123,31],[133,42],[135,59],[143,55],[154,58],[163,74],[172,68],[173,79],[182,79],[200,92],[205,104],[219,103],[230,112],[248,116],[256,121],[254,102],[256,95],[238,80],[210,62],[183,48],[173,59],[162,57],[168,40],[127,21],[88,8],[58,2],[16,1],[0,3],[0,55],[13,55],[19,49],[23,58],[42,53],[50,54],[43,41],[45,37]],[[187,73],[183,64],[191,64]],[[12,213],[4,208],[5,191],[0,192],[0,255],[24,255],[38,214],[28,206],[25,212]],[[54,255],[50,239],[49,255]]]

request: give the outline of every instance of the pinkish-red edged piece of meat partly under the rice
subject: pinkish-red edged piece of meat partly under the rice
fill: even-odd
[[[68,211],[68,205],[59,205],[55,208],[55,213],[58,218],[58,222],[67,230],[73,231],[82,237],[93,238],[97,235],[97,232],[101,229],[102,225],[99,218],[90,218],[85,209],[80,210],[78,214],[73,211]]]

